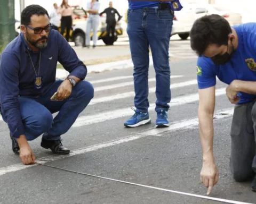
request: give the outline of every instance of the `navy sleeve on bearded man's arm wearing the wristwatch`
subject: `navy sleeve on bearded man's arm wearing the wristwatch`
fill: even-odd
[[[75,50],[68,44],[67,40],[58,32],[58,61],[69,72],[69,76],[75,76],[84,80],[87,75],[87,67],[79,60]]]

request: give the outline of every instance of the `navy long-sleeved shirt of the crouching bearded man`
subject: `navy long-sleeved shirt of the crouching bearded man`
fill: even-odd
[[[36,89],[34,84],[36,74],[38,74],[37,62],[40,52],[39,76],[42,77],[42,88]],[[55,82],[58,61],[69,72],[69,75],[81,80],[85,79],[86,66],[78,59],[66,39],[56,30],[50,31],[47,46],[39,52],[30,49],[23,33],[20,33],[3,50],[0,56],[0,106],[1,114],[13,137],[19,138],[20,135],[25,134],[18,97],[39,97],[49,91]]]

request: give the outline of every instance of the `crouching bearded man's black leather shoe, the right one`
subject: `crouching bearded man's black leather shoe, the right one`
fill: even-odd
[[[42,139],[41,147],[45,149],[51,149],[54,154],[66,155],[69,154],[70,150],[64,147],[61,140],[45,140]]]

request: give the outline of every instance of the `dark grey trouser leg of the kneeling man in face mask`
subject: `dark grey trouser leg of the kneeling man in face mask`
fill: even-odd
[[[231,124],[230,169],[237,182],[256,174],[256,100],[235,105]]]

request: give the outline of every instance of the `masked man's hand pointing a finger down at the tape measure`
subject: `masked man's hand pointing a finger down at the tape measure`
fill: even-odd
[[[200,181],[208,188],[207,195],[209,195],[213,186],[219,181],[219,172],[214,162],[203,162]]]

